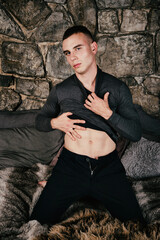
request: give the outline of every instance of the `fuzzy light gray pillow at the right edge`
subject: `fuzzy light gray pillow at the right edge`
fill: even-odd
[[[130,143],[121,161],[132,178],[160,176],[160,143],[145,138]]]

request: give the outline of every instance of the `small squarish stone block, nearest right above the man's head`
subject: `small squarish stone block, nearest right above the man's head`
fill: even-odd
[[[98,31],[100,33],[116,33],[119,31],[116,11],[98,11]]]

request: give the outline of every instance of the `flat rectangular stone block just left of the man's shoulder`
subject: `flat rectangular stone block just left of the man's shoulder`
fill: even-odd
[[[28,96],[47,98],[49,95],[49,83],[45,81],[17,78],[16,91]]]

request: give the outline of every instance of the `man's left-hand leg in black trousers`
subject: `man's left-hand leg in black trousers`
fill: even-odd
[[[83,172],[71,155],[62,153],[31,219],[36,219],[41,224],[58,222],[64,211],[87,192],[84,184],[86,181],[82,180]]]

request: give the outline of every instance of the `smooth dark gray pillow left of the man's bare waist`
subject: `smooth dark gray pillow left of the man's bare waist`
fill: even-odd
[[[0,167],[49,164],[63,144],[59,130],[40,132],[34,127],[0,129]]]

